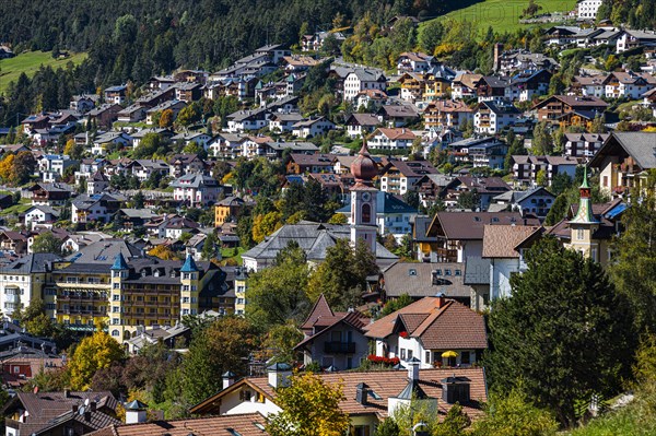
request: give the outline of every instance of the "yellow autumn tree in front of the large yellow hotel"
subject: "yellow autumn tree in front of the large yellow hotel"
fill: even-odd
[[[96,370],[109,367],[124,356],[120,344],[98,329],[93,335],[86,337],[80,342],[70,360],[71,388],[89,389]]]

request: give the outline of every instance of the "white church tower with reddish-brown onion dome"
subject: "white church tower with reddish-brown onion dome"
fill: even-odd
[[[363,138],[362,149],[358,157],[351,163],[351,174],[355,177],[355,185],[351,188],[351,244],[364,240],[372,252],[376,254],[376,195],[374,178],[378,175],[378,167],[366,146]]]

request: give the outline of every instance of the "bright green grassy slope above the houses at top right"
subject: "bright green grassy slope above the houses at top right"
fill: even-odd
[[[536,0],[542,7],[540,13],[571,11],[576,0]],[[551,24],[519,24],[519,15],[526,9],[528,1],[484,0],[457,11],[449,12],[445,17],[476,22],[481,33],[492,26],[495,32],[515,32],[522,27],[549,26]],[[444,16],[436,20],[444,20]]]

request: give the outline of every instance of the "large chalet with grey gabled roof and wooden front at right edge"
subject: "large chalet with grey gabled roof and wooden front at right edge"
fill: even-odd
[[[599,170],[599,188],[625,195],[646,186],[647,170],[656,168],[656,133],[613,132],[590,160]]]

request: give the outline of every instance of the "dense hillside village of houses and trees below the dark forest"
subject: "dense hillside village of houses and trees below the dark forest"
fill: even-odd
[[[348,61],[330,49],[344,27],[16,114],[0,126],[5,434],[305,435],[272,417],[304,375],[341,389],[326,435],[495,434],[490,387],[522,377],[508,398],[543,413],[531,434],[614,408],[656,321],[640,294],[656,33],[595,21],[601,3],[539,44],[494,42],[490,74],[420,50]],[[553,341],[513,354],[547,318],[535,335]],[[530,398],[536,374],[514,367],[558,360],[558,340],[621,362],[572,357],[598,377],[559,376],[566,404]]]

